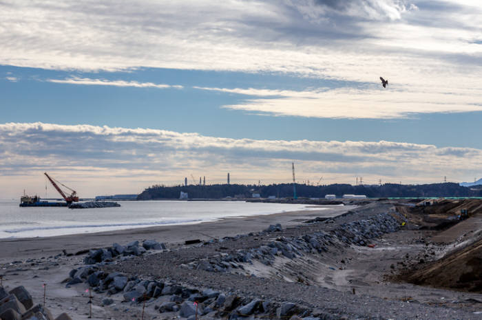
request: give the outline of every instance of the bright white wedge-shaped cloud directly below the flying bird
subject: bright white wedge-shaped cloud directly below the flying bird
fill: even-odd
[[[364,89],[318,89],[316,91],[289,91],[269,89],[201,88],[260,97],[224,108],[259,112],[270,115],[292,115],[319,118],[390,119],[409,117],[415,113],[457,113],[482,111],[482,91],[420,89],[399,87],[384,90],[381,85]]]

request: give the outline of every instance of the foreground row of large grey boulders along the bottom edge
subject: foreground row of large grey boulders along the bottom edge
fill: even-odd
[[[178,315],[187,319],[196,317],[196,304],[198,317],[205,315],[208,318],[238,319],[243,317],[278,317],[289,319],[292,315],[300,317],[313,316],[313,310],[298,306],[291,302],[280,304],[276,301],[265,301],[256,297],[240,297],[234,293],[220,293],[212,289],[199,289],[173,282],[160,282],[158,280],[145,280],[138,277],[128,277],[123,273],[105,273],[98,271],[94,266],[87,267],[81,273],[94,290],[107,295],[122,295],[123,300],[138,304],[161,296],[170,296],[169,301],[163,299],[162,304],[154,308],[160,313],[178,312]],[[103,305],[112,304],[113,300],[103,299]],[[195,304],[196,303],[196,304]],[[316,319],[316,317],[314,317]],[[331,319],[331,318],[322,318]]]

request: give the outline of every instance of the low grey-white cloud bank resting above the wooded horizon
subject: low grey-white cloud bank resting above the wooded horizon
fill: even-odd
[[[17,196],[24,181],[43,185],[43,172],[84,196],[92,192],[140,192],[154,183],[173,185],[185,176],[239,183],[290,181],[295,161],[300,181],[324,176],[326,183],[472,179],[482,170],[482,150],[437,148],[391,141],[285,141],[229,139],[147,128],[43,123],[0,124],[0,192]],[[23,185],[23,186],[22,186]],[[15,187],[13,187],[15,186]],[[105,188],[109,191],[106,191]],[[110,191],[112,190],[112,191]]]

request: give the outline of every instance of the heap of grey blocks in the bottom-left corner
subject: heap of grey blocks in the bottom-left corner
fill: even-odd
[[[3,320],[72,320],[66,313],[52,317],[48,308],[34,305],[32,296],[23,286],[17,286],[8,293],[0,286],[0,319]]]

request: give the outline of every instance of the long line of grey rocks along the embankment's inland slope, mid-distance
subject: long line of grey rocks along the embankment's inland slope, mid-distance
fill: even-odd
[[[400,216],[400,218],[402,218]],[[400,223],[390,214],[378,214],[372,218],[357,220],[339,225],[331,231],[317,231],[302,237],[278,237],[260,247],[238,249],[233,254],[221,253],[217,257],[202,259],[182,264],[181,268],[205,270],[211,272],[230,272],[235,268],[243,269],[243,263],[252,263],[256,259],[266,266],[271,266],[277,256],[294,259],[304,253],[327,252],[333,245],[366,246],[370,239],[382,236],[384,233],[400,229]],[[271,225],[258,233],[280,231],[281,225]]]

